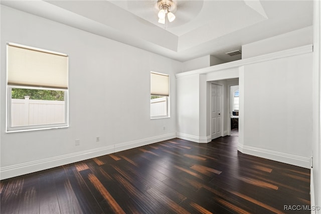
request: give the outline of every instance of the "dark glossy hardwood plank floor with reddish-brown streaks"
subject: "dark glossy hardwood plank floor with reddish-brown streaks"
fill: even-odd
[[[309,169],[172,139],[1,181],[1,213],[291,213]],[[292,213],[309,213],[292,211]]]

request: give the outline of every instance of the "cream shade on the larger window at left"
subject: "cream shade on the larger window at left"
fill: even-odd
[[[68,56],[9,43],[9,85],[68,88]]]

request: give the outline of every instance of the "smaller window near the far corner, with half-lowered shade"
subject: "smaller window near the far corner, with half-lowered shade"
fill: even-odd
[[[170,76],[150,72],[150,118],[168,118]]]

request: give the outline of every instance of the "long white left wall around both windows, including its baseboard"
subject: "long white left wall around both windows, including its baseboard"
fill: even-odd
[[[5,132],[6,42],[69,55],[69,128]],[[1,178],[176,137],[175,73],[181,67],[181,62],[1,6]],[[150,120],[150,71],[170,75],[171,118]]]

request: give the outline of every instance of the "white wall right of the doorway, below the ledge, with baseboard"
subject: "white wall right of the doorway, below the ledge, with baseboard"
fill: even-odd
[[[243,152],[309,168],[312,53],[245,65],[243,80]]]

